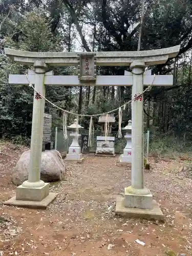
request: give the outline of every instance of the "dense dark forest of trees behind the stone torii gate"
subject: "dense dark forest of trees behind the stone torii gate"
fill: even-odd
[[[33,91],[11,86],[9,74],[27,67],[5,56],[4,47],[24,51],[136,51],[141,19],[138,0],[2,0],[0,2],[0,136],[28,143]],[[144,94],[144,129],[150,128],[156,148],[192,151],[192,1],[146,0],[141,50],[181,45],[179,55],[151,67],[152,74],[173,74],[172,87],[153,87]],[[55,75],[76,75],[75,67],[54,69]],[[123,75],[127,67],[100,67],[100,75]],[[47,87],[46,97],[60,108],[79,114],[110,111],[131,99],[131,87]],[[62,112],[46,103],[55,126]],[[118,112],[115,113],[118,130]],[[68,121],[74,117],[69,116]],[[122,127],[131,119],[123,111]],[[96,129],[100,129],[94,119]],[[89,119],[80,124],[88,129]]]

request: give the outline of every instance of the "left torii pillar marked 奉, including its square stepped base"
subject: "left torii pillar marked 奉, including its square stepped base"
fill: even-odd
[[[42,60],[36,60],[34,68],[35,90],[45,97],[44,78],[47,65]],[[46,208],[56,197],[55,193],[49,193],[49,183],[40,180],[44,109],[45,99],[34,91],[28,180],[16,188],[16,196],[5,204]]]

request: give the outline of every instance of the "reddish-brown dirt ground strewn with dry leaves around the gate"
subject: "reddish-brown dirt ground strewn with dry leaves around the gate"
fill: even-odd
[[[58,196],[46,210],[3,205],[15,194],[11,170],[25,150],[0,145],[0,255],[192,255],[192,179],[183,161],[153,159],[144,174],[165,216],[160,223],[115,215],[116,196],[131,182],[118,156],[67,164],[66,179],[51,184]]]

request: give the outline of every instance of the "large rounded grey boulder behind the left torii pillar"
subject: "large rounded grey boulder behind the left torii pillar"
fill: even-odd
[[[21,185],[28,179],[30,150],[24,152],[12,172],[12,181]],[[46,150],[41,153],[40,179],[45,182],[62,180],[66,174],[66,165],[60,153],[56,150]]]

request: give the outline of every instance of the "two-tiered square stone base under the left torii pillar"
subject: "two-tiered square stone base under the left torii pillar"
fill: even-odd
[[[49,193],[49,183],[45,183],[42,187],[24,187],[20,185],[16,188],[16,196],[4,204],[46,209],[56,196],[55,193]]]

